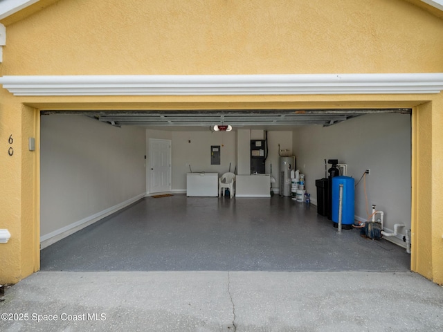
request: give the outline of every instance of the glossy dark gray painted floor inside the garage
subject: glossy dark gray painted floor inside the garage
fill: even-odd
[[[142,199],[41,252],[45,271],[407,271],[386,241],[341,234],[290,198]]]

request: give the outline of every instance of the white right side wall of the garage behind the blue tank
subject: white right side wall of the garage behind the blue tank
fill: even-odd
[[[300,127],[293,133],[293,149],[313,203],[315,180],[325,177],[324,159],[338,158],[339,163],[347,164],[348,176],[356,183],[365,169],[370,169],[366,176],[369,214],[375,204],[384,212],[388,230],[393,230],[395,223],[410,228],[410,115],[368,114],[331,127]],[[368,219],[363,180],[355,191],[355,214],[357,220]],[[399,239],[406,228],[399,229]]]

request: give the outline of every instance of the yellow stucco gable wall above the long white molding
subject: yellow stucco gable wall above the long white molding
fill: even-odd
[[[7,28],[3,75],[443,68],[443,21],[404,0],[61,0]]]

